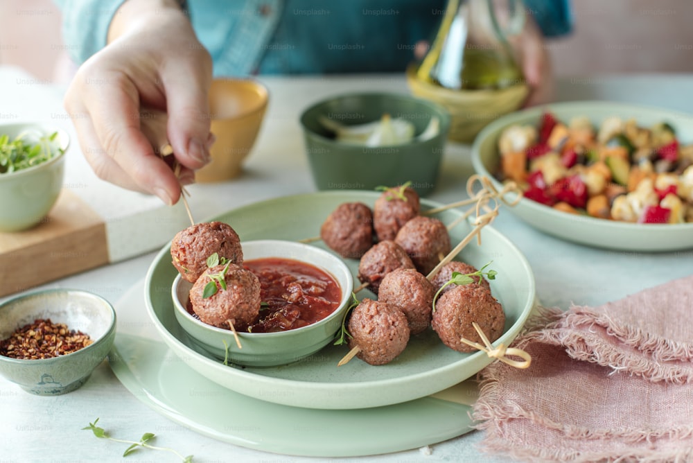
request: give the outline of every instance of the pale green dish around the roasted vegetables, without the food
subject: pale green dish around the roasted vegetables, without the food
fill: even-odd
[[[472,146],[474,170],[489,177],[497,188],[502,188],[502,184],[493,176],[498,171],[498,139],[501,132],[512,124],[536,126],[545,111],[554,113],[562,121],[574,116],[587,116],[595,125],[610,116],[635,119],[646,126],[668,122],[676,129],[681,143],[693,143],[693,115],[690,114],[606,101],[554,103],[514,112],[487,125]],[[513,195],[509,195],[509,198],[512,197]],[[556,211],[526,198],[520,200],[516,207],[507,210],[538,230],[583,245],[635,252],[674,251],[693,247],[693,223],[669,225],[617,222]]]

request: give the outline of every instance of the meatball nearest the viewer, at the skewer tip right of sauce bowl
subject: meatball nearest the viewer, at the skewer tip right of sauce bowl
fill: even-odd
[[[396,306],[363,299],[349,318],[349,348],[370,365],[392,362],[409,342],[407,317]]]

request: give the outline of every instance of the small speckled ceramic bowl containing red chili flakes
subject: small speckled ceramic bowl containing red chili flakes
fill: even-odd
[[[55,396],[82,386],[106,358],[116,313],[91,292],[30,292],[0,304],[0,374],[31,394]]]

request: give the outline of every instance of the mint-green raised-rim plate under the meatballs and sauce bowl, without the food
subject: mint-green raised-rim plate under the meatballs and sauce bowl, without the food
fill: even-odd
[[[238,232],[241,241],[261,239],[299,240],[319,234],[320,225],[342,202],[361,201],[372,206],[378,193],[327,191],[277,198],[251,204],[218,216]],[[422,208],[436,207],[422,201]],[[446,224],[460,216],[449,210],[438,214]],[[463,221],[450,231],[453,243],[462,241],[472,228]],[[322,242],[315,245],[324,247]],[[392,405],[420,399],[474,376],[491,359],[483,352],[459,353],[448,349],[432,330],[414,336],[393,362],[374,367],[354,359],[337,367],[347,353],[343,346],[328,345],[318,353],[281,367],[226,366],[195,347],[174,315],[170,287],[176,270],[170,263],[169,246],[155,257],[145,282],[148,314],[161,339],[191,369],[213,383],[254,399],[318,409],[357,409]],[[493,261],[498,272],[492,290],[506,314],[505,333],[495,344],[509,344],[522,328],[534,304],[534,277],[525,257],[498,231],[482,229],[482,245],[472,241],[462,259],[481,267]],[[358,261],[347,262],[354,276]],[[358,297],[367,296],[367,291]],[[373,297],[371,295],[371,297]]]

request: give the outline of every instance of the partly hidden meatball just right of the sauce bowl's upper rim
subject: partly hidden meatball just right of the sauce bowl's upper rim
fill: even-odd
[[[398,268],[414,268],[414,263],[394,241],[380,241],[363,254],[358,263],[358,279],[378,294],[383,277]]]

